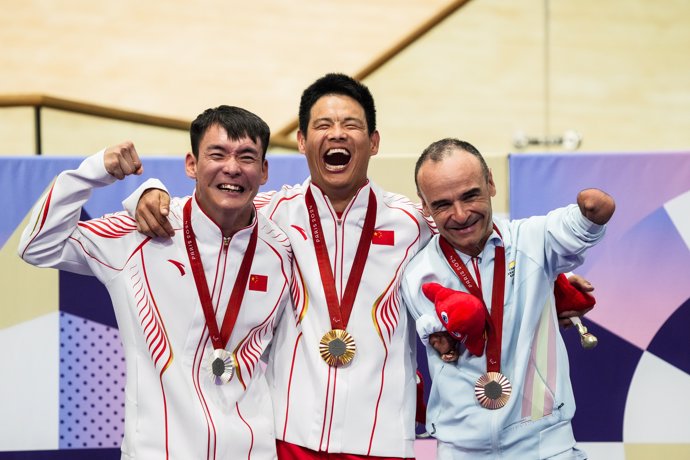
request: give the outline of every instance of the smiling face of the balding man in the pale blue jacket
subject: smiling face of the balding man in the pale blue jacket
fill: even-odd
[[[478,255],[493,229],[491,198],[496,195],[477,157],[455,149],[440,161],[427,160],[417,181],[424,212],[459,251]]]

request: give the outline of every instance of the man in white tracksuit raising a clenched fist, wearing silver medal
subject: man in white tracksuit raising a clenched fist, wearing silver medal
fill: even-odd
[[[170,203],[171,239],[125,213],[80,222],[92,189],[142,163],[131,142],[56,179],[34,208],[20,255],[96,276],[107,287],[127,361],[123,458],[276,458],[261,354],[290,305],[291,249],[253,205],[268,175],[270,130],[220,106],[190,128],[192,197]]]

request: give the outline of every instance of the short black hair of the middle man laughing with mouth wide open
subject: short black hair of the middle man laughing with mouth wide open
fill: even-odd
[[[364,109],[369,135],[376,131],[376,106],[369,88],[354,78],[342,73],[329,73],[309,85],[302,93],[299,103],[299,129],[304,136],[311,117],[311,108],[323,96],[337,94],[357,101]]]

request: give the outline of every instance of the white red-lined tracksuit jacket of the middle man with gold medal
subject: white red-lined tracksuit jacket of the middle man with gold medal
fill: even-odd
[[[331,323],[305,205],[307,187],[318,208],[341,299],[370,188],[376,196],[375,235],[347,326],[357,352],[341,368],[329,367],[319,354],[319,341]],[[316,451],[414,457],[416,342],[399,285],[405,265],[432,236],[429,222],[406,197],[371,182],[340,218],[309,179],[260,194],[255,203],[288,235],[295,256],[292,323],[278,326],[267,369],[277,438]]]

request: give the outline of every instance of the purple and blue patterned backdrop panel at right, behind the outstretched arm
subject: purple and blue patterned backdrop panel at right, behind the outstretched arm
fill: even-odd
[[[580,442],[662,442],[678,432],[673,428],[683,423],[681,415],[626,414],[643,413],[631,408],[673,406],[666,396],[674,396],[662,394],[666,376],[649,375],[641,366],[643,355],[662,360],[669,378],[690,373],[690,347],[682,332],[690,329],[690,153],[510,156],[511,218],[573,203],[589,187],[610,193],[617,208],[604,241],[576,271],[595,286],[597,306],[585,323],[599,346],[585,351],[575,330],[563,332],[577,402],[575,436]],[[662,393],[646,392],[644,401],[639,392],[638,400],[629,398],[633,386],[646,388],[654,381]],[[687,394],[676,397],[687,401]],[[637,433],[644,438],[634,438]],[[690,443],[690,435],[683,436],[668,442]]]

